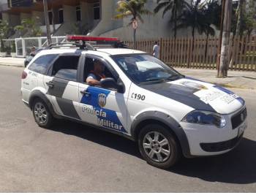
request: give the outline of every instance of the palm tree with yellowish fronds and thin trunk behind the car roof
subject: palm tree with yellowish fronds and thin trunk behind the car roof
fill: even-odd
[[[116,9],[119,12],[114,16],[115,19],[123,19],[132,17],[128,26],[131,26],[132,23],[137,23],[140,20],[143,23],[142,15],[150,15],[151,12],[145,8],[147,0],[121,0],[118,1],[118,7]],[[133,42],[134,47],[136,48],[136,28],[133,29]]]

